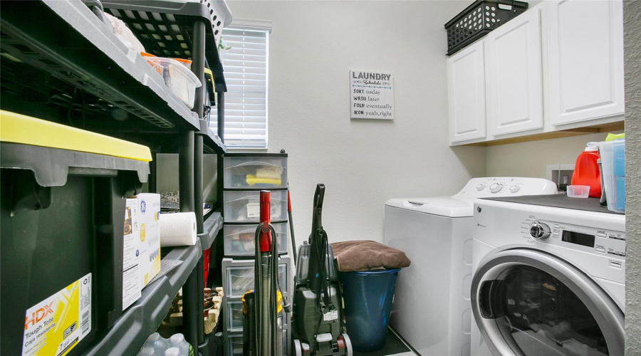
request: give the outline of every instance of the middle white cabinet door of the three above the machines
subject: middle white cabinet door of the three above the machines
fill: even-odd
[[[489,135],[543,127],[540,12],[526,11],[484,39]]]

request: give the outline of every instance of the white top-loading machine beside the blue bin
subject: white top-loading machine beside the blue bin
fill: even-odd
[[[385,244],[412,261],[398,274],[390,323],[421,355],[469,355],[474,199],[556,194],[547,179],[470,179],[452,197],[390,199]]]

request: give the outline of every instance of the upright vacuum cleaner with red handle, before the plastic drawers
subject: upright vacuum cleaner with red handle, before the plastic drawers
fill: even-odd
[[[283,294],[278,286],[278,242],[270,224],[271,193],[261,191],[256,246],[254,290],[243,295],[243,355],[281,356],[283,350]],[[288,308],[288,305],[285,305]]]

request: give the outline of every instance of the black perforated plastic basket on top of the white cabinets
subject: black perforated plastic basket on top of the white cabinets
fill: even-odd
[[[445,23],[447,56],[485,36],[528,9],[528,3],[507,0],[476,0],[454,19]]]

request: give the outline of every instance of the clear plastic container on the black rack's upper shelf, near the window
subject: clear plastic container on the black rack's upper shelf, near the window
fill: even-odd
[[[144,56],[149,63],[165,79],[172,93],[176,95],[187,108],[194,108],[196,88],[200,85],[198,77],[183,63],[172,58]]]

